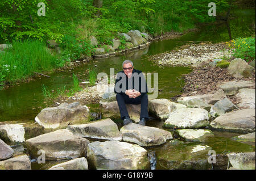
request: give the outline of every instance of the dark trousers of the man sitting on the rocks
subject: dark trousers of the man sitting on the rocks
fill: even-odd
[[[129,116],[126,105],[125,104],[141,104],[141,118],[144,117],[146,120],[148,119],[148,98],[147,94],[140,95],[137,98],[129,98],[127,95],[117,94],[115,96],[117,98],[117,103],[119,106],[119,111],[121,115],[121,119],[124,119],[125,116]]]

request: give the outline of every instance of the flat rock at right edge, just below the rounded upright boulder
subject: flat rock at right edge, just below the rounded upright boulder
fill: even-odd
[[[224,90],[226,95],[236,95],[237,91],[242,88],[255,87],[255,82],[251,81],[230,81],[223,82],[218,85],[222,90]]]

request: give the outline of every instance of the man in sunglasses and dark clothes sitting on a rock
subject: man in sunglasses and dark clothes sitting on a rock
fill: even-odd
[[[115,79],[115,93],[123,124],[132,122],[126,104],[141,104],[139,124],[145,125],[148,120],[147,83],[141,70],[133,67],[130,60],[123,61],[123,70],[117,73]]]

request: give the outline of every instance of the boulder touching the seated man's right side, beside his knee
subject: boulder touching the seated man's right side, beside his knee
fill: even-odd
[[[180,108],[185,108],[183,104],[171,102],[168,99],[148,100],[148,111],[154,113],[161,120],[166,120],[171,112]]]

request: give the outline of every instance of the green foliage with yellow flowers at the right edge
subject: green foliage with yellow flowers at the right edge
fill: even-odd
[[[229,47],[234,48],[233,55],[236,58],[242,58],[246,62],[255,59],[255,36],[238,38],[227,42]]]

